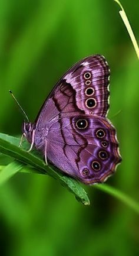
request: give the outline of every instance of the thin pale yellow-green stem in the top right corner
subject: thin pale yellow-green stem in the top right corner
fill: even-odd
[[[117,2],[117,4],[120,6],[121,11],[119,11],[121,18],[125,24],[125,27],[127,28],[128,34],[130,35],[131,41],[133,43],[134,49],[135,49],[135,53],[137,54],[137,57],[139,59],[139,48],[138,48],[138,44],[137,41],[135,39],[135,35],[133,33],[133,30],[131,28],[130,22],[128,21],[127,15],[125,14],[124,8],[121,5],[120,1],[118,0],[114,0],[115,2]]]

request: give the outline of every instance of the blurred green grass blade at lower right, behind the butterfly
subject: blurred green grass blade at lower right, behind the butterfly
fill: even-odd
[[[96,189],[102,190],[105,193],[108,193],[111,196],[114,196],[139,214],[139,203],[132,199],[130,196],[125,195],[125,193],[121,192],[118,189],[114,189],[114,187],[111,187],[108,184],[97,184],[94,185],[94,187]]]

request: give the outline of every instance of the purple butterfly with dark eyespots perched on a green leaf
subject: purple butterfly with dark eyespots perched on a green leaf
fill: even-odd
[[[110,68],[96,54],[59,79],[34,123],[24,122],[32,147],[69,176],[85,184],[104,182],[121,161],[114,126],[107,119]]]

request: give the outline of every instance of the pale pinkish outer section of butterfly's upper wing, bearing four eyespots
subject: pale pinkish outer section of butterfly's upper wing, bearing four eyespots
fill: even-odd
[[[74,72],[64,79],[76,91],[78,108],[85,114],[105,116],[108,111],[110,69],[102,56],[85,58]]]

